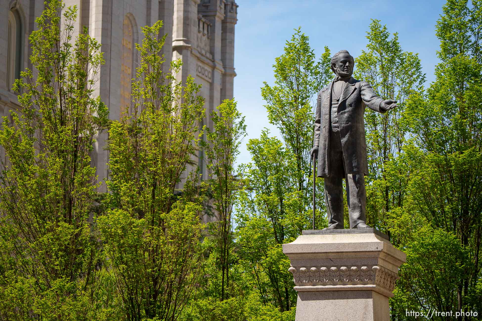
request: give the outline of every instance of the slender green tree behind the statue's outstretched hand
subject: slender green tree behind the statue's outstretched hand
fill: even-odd
[[[387,167],[402,152],[407,134],[402,120],[406,101],[409,95],[423,91],[425,74],[418,54],[403,51],[398,33],[390,38],[387,26],[382,26],[380,20],[372,20],[366,38],[367,50],[355,60],[354,77],[367,81],[380,97],[396,100],[398,105],[384,114],[365,111],[367,219],[389,234],[386,215],[392,208],[402,206],[406,186],[403,180],[388,177]]]

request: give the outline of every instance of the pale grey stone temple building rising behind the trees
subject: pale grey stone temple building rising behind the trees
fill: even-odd
[[[183,82],[188,75],[202,84],[206,114],[224,99],[233,98],[234,27],[237,7],[234,0],[64,0],[76,5],[76,32],[83,26],[101,44],[104,64],[96,86],[109,108],[109,118],[119,119],[130,104],[131,79],[137,53],[134,44],[142,42],[141,27],[162,20],[161,32],[166,63],[183,62],[177,75]],[[36,28],[35,18],[44,9],[44,0],[0,0],[0,116],[18,108],[11,90],[20,70],[31,68],[28,36]],[[210,126],[211,124],[206,123]],[[93,162],[100,180],[108,176],[105,149],[107,133],[94,146]],[[103,185],[105,191],[105,185]]]

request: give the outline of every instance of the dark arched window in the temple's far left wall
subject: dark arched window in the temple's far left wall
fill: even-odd
[[[15,79],[20,78],[22,69],[22,23],[15,9],[8,13],[7,38],[7,88],[11,90]]]

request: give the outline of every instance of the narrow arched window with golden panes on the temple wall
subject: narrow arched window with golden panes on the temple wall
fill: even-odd
[[[124,17],[122,26],[122,54],[120,64],[120,116],[129,112],[131,106],[131,85],[132,85],[132,45],[134,42],[132,23],[127,16]]]

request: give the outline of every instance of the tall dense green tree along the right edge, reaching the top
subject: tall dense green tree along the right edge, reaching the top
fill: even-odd
[[[456,235],[468,253],[467,260],[459,256],[453,262],[463,267],[454,310],[464,311],[482,308],[476,295],[482,212],[481,17],[481,1],[469,7],[468,1],[449,0],[443,6],[436,26],[441,40],[436,80],[426,95],[410,98],[404,116],[414,140],[407,153],[421,162],[414,168],[418,184],[410,191],[414,203],[433,227]],[[445,280],[437,282],[443,286]]]

